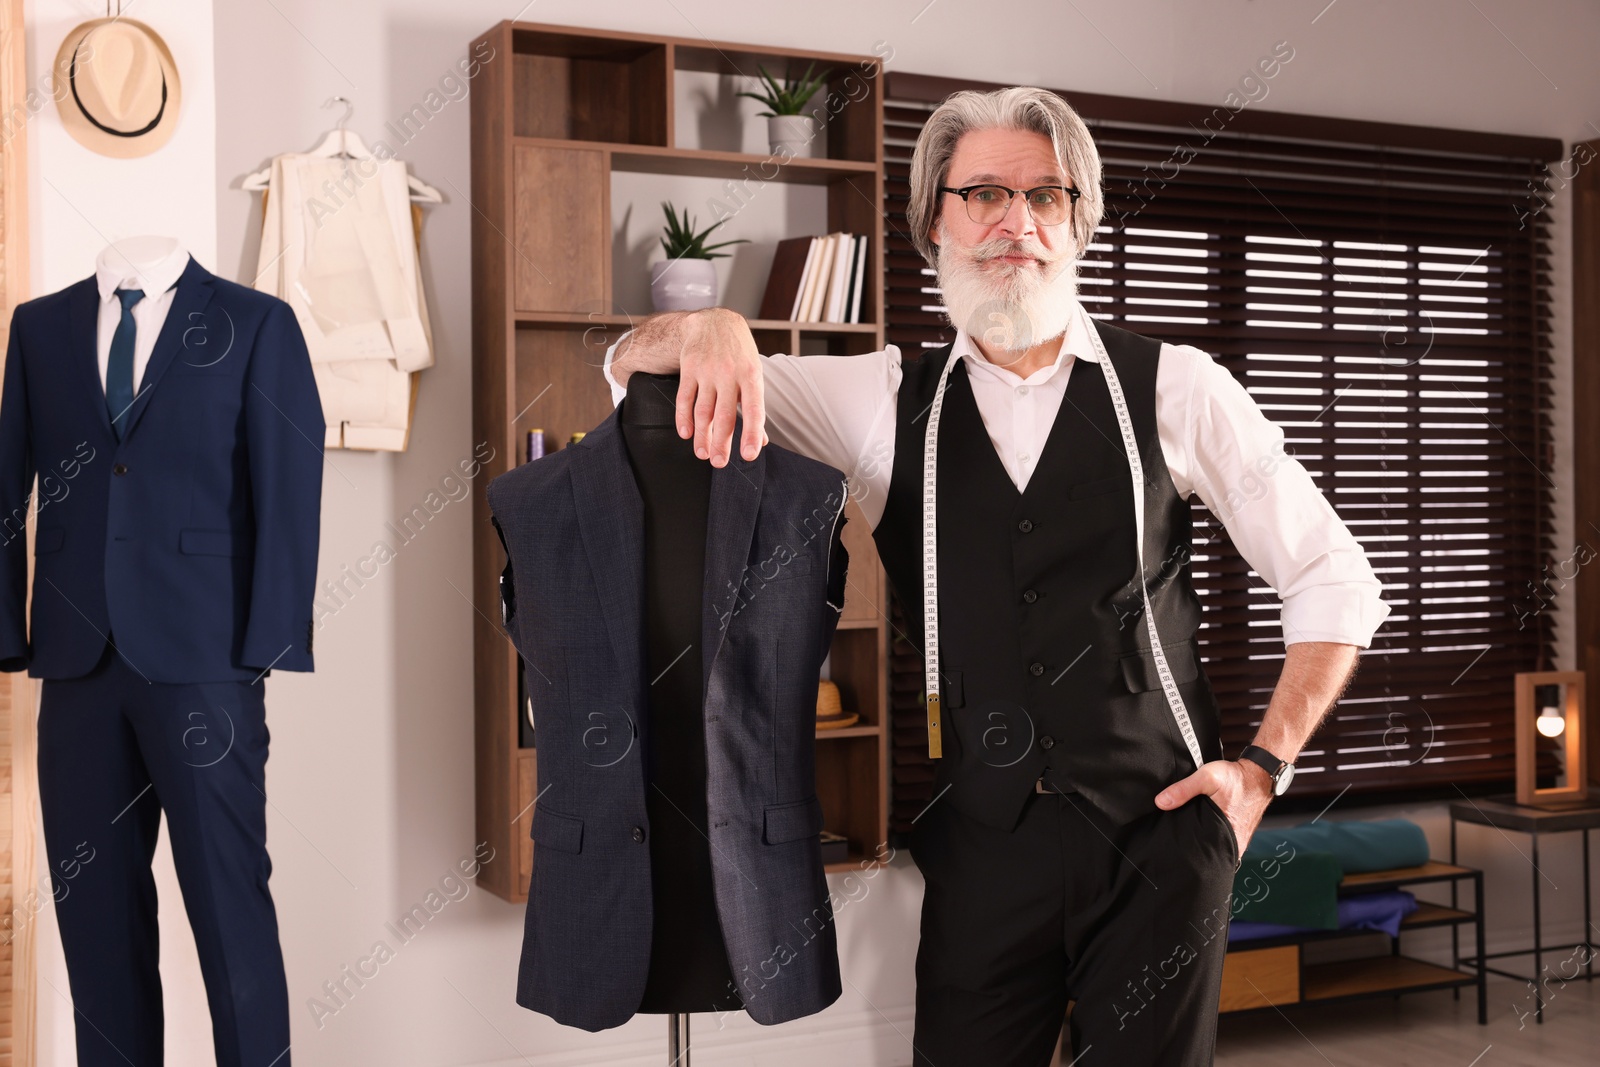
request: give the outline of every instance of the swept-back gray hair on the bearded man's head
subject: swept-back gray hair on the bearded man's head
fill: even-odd
[[[917,150],[910,157],[910,206],[906,210],[906,222],[912,245],[928,266],[934,266],[939,254],[939,246],[928,237],[939,214],[939,186],[947,184],[955,144],[971,130],[1024,130],[1050,138],[1067,182],[1082,192],[1070,221],[1072,256],[1082,256],[1106,213],[1099,149],[1094,147],[1090,128],[1067,101],[1050,90],[1011,86],[987,93],[950,93],[933,110],[917,138]]]

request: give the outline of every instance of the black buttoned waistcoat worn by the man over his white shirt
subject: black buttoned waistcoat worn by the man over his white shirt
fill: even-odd
[[[1162,648],[1205,758],[1221,758],[1216,699],[1194,633],[1189,504],[1155,422],[1160,342],[1094,323],[1117,368],[1144,466],[1144,561]],[[902,365],[894,467],[874,531],[914,640],[922,635],[922,466],[950,346]],[[934,792],[1010,830],[1040,777],[1115,822],[1155,811],[1194,771],[1150,654],[1134,557],[1133,485],[1099,363],[1077,360],[1027,490],[1018,493],[950,371],[939,424],[939,667]]]

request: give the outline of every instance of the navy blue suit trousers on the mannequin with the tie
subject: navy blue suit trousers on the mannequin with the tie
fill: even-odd
[[[160,1067],[155,854],[162,811],[211,1008],[218,1067],[288,1067],[267,889],[264,681],[150,683],[107,645],[46,680],[38,789],[78,1067]]]

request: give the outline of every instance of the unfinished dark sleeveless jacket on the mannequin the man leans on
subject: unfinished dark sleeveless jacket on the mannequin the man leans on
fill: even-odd
[[[840,995],[814,721],[843,605],[846,493],[834,467],[771,445],[712,475],[696,649],[710,856],[730,969],[762,1024]],[[603,1030],[638,1009],[653,926],[643,506],[618,411],[494,478],[488,501],[539,737],[517,1003]]]

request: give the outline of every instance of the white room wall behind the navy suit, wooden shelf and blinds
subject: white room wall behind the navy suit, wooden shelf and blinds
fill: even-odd
[[[352,130],[368,141],[384,136],[384,123],[421,102],[466,56],[469,42],[506,18],[854,53],[886,42],[894,50],[891,69],[1205,104],[1219,104],[1259,56],[1286,40],[1296,56],[1272,80],[1261,101],[1267,109],[1568,141],[1600,136],[1594,125],[1600,123],[1600,107],[1594,107],[1600,70],[1592,61],[1600,8],[1581,0],[1080,0],[1061,6],[821,0],[798,8],[534,0],[518,6],[522,0],[232,0],[214,11],[205,0],[126,5],[128,14],[173,46],[184,78],[181,126],[158,154],[114,162],[72,142],[53,107],[34,118],[35,291],[88,274],[106,240],[139,232],[179,235],[218,274],[248,283],[256,274],[261,214],[259,200],[237,189],[238,179],[278,152],[309,147],[331,125],[336,112],[320,104],[333,94],[355,102]],[[30,83],[48,72],[67,29],[101,11],[90,0],[29,6]],[[446,198],[429,210],[422,232],[438,363],[424,373],[408,453],[330,453],[322,579],[365,555],[384,536],[386,522],[408,512],[477,445],[469,405],[467,126],[467,102],[450,101],[400,150]],[[642,269],[650,259],[658,200],[706,195],[696,186],[656,186],[638,176],[613,189],[634,205],[629,227],[618,235],[626,253],[618,256],[619,269]],[[816,205],[794,192],[749,219],[741,216],[755,229],[728,237],[770,240],[789,224],[786,213],[810,218]],[[1565,406],[1571,395],[1570,206],[1558,192],[1550,214],[1557,222],[1562,442],[1571,440]],[[718,262],[726,270],[736,261]],[[618,286],[629,304],[642,291],[637,282]],[[1570,545],[1576,534],[1565,446],[1549,474],[1558,486],[1557,544]],[[341,979],[346,965],[371,952],[386,923],[474,853],[469,637],[483,622],[464,597],[469,522],[464,504],[445,509],[328,619],[317,638],[314,675],[277,672],[267,683],[272,889],[290,974],[294,1061],[341,1067],[659,1064],[659,1017],[590,1035],[518,1008],[512,995],[522,909],[477,889],[443,909],[376,977],[358,989],[352,984],[334,1014],[318,1022],[309,1006],[323,982]],[[1563,662],[1571,662],[1571,646],[1563,627]],[[1341,801],[1330,817],[1358,811]],[[1395,813],[1422,822],[1435,856],[1445,856],[1440,805],[1360,814]],[[1530,869],[1517,853],[1522,843],[1514,848],[1510,838],[1478,830],[1462,830],[1462,859],[1488,869],[1491,942],[1509,945],[1528,934]],[[1574,851],[1547,845],[1552,881],[1562,886],[1546,893],[1552,937],[1578,933],[1576,861],[1560,869]],[[192,944],[184,955],[187,931],[170,861],[162,862],[168,1062],[210,1064],[203,990]],[[838,915],[840,1001],[773,1029],[742,1016],[696,1016],[701,1062],[909,1062],[920,878],[901,857],[872,881],[834,877],[834,886],[850,899]],[[64,993],[51,915],[40,923],[42,979]],[[43,982],[40,1025],[40,1064],[72,1062],[70,1011]]]

